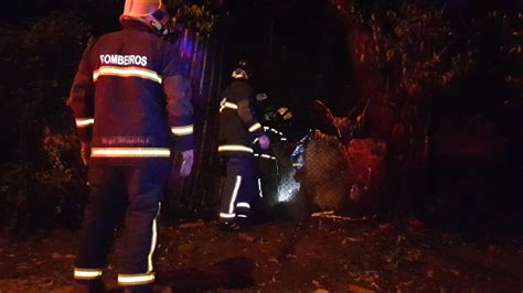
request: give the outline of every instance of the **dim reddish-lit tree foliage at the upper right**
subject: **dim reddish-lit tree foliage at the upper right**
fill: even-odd
[[[460,39],[441,9],[403,1],[377,11],[352,4],[344,13],[353,28],[350,53],[357,82],[364,99],[375,99],[371,107],[378,112],[371,118],[365,111],[357,122],[385,120],[385,129],[377,131],[384,139],[391,138],[393,126],[417,135],[415,129],[430,116],[433,98],[474,68],[477,50]]]

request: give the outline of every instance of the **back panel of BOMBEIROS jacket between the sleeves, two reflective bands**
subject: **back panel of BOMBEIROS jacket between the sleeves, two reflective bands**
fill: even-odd
[[[129,158],[103,155],[121,149],[150,149],[167,154],[170,130],[162,73],[168,46],[140,28],[124,29],[96,41],[89,58],[96,85],[92,159],[127,164]]]

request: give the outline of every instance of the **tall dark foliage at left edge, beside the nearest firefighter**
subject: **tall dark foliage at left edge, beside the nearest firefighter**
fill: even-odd
[[[0,31],[0,65],[12,68],[0,73],[1,119],[13,138],[1,166],[0,225],[19,236],[55,220],[74,226],[85,181],[65,100],[90,29],[74,13],[53,12]]]

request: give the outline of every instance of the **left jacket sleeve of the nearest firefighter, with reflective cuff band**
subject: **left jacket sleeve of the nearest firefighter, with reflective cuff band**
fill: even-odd
[[[75,118],[76,134],[83,142],[90,142],[95,123],[93,68],[89,61],[93,45],[92,40],[82,56],[67,100]]]

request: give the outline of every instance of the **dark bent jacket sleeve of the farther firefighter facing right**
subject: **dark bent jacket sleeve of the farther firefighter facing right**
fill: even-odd
[[[255,138],[259,138],[265,134],[262,124],[256,119],[254,111],[252,109],[250,99],[253,96],[253,90],[245,83],[239,83],[234,89],[234,95],[236,97],[236,104],[238,106],[238,116],[242,119],[242,122],[248,129]]]

